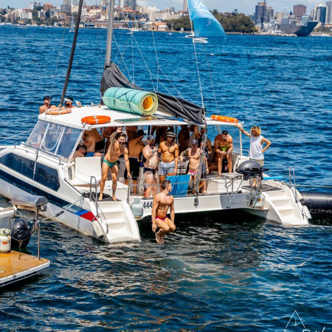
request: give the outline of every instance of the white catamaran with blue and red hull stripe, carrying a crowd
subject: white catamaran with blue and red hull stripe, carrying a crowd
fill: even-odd
[[[80,0],[81,7],[82,3]],[[196,36],[225,36],[218,20],[202,3],[194,7],[193,0],[189,0],[188,5],[194,29],[197,27]],[[282,225],[307,225],[310,212],[301,204],[293,171],[290,169],[289,185],[280,181],[280,176],[268,176],[265,170],[252,164],[243,151],[241,131],[235,127],[240,122],[236,118],[207,116],[202,94],[202,105],[199,106],[159,91],[145,91],[111,62],[113,12],[114,1],[109,6],[105,70],[101,82],[104,105],[47,111],[38,116],[27,141],[1,146],[0,194],[8,198],[24,193],[45,196],[49,204],[44,214],[54,221],[104,242],[140,241],[138,223],[151,216],[153,202],[153,198],[145,197],[147,184],[143,168],[140,168],[134,194],[133,184],[124,181],[124,158],[118,159],[118,200],[106,198],[98,201],[101,158],[73,159],[76,148],[84,132],[90,130],[102,134],[108,127],[138,126],[149,134],[152,126],[168,126],[177,133],[180,126],[196,125],[207,129],[208,133],[214,130],[221,133],[224,129],[232,133],[233,171],[222,173],[220,177],[218,172],[203,174],[199,167],[197,181],[192,184],[195,195],[192,195],[188,194],[187,162],[179,162],[177,175],[170,177],[174,184],[176,214],[242,209]],[[70,61],[75,51],[80,14],[79,10]],[[70,61],[61,104],[69,79]],[[119,98],[112,94],[118,89],[125,89]],[[206,135],[202,136],[203,147],[206,141]],[[207,154],[208,159],[213,160],[213,149]],[[200,163],[203,164],[203,157]],[[253,185],[253,179],[258,181],[258,186]],[[201,181],[206,182],[206,193],[199,191]],[[111,180],[105,183],[104,196],[107,195],[112,195]]]

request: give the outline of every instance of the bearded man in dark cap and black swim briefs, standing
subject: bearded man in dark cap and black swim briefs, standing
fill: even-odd
[[[148,136],[148,144],[143,149],[143,157],[145,158],[144,163],[144,176],[145,181],[148,185],[147,192],[145,194],[146,197],[155,197],[157,194],[157,183],[158,183],[158,147],[154,146],[154,137],[153,135]],[[152,195],[151,195],[152,193]]]

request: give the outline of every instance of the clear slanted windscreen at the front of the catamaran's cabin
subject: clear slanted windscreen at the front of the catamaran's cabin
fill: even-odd
[[[39,120],[27,140],[27,145],[68,160],[82,130]]]

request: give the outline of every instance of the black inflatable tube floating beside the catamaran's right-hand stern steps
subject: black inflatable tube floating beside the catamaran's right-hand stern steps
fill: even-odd
[[[311,212],[332,214],[332,193],[301,192],[303,202]]]

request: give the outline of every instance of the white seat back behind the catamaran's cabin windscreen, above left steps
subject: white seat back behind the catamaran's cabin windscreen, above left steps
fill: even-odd
[[[102,179],[100,157],[75,158],[75,176],[70,182],[74,185],[90,184],[91,176],[96,178],[97,183]],[[94,179],[92,184],[94,184]]]

